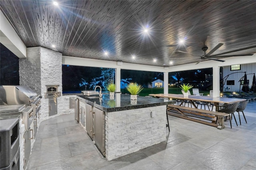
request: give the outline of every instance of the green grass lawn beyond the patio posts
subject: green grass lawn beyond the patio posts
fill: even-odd
[[[126,89],[121,89],[121,92],[123,94],[128,93],[130,94]],[[203,91],[203,90],[199,90],[200,93],[204,93],[204,95],[209,95],[210,91]],[[141,92],[140,92],[140,96],[148,96],[149,94],[159,94],[159,93],[164,93],[164,88],[144,88]],[[172,93],[172,94],[182,94],[181,93],[181,89],[178,87],[170,87],[168,88],[168,93]],[[192,93],[192,89],[190,90],[190,93]]]

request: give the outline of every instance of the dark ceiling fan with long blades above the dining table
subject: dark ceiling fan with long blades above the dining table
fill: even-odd
[[[196,55],[196,54],[192,54],[192,53],[187,53],[187,52],[184,52],[184,51],[177,51],[177,52],[180,52],[180,53],[186,53],[186,54],[190,54],[190,55],[194,55],[194,56],[197,56],[197,57],[200,57],[201,59],[196,63],[200,63],[201,61],[205,61],[205,60],[215,60],[215,61],[220,61],[220,62],[224,62],[224,60],[221,60],[221,59],[216,59],[218,57],[236,57],[236,56],[250,56],[250,55],[253,55],[253,53],[248,53],[248,54],[237,54],[237,55],[222,55],[222,54],[227,54],[227,53],[232,53],[232,52],[236,52],[236,51],[242,51],[242,50],[245,50],[245,49],[250,49],[250,48],[254,48],[256,47],[256,45],[253,45],[253,46],[250,46],[250,47],[245,47],[245,48],[240,48],[240,49],[235,49],[235,50],[232,50],[232,51],[227,51],[227,52],[224,52],[224,53],[218,53],[218,54],[214,54],[214,55],[211,55],[212,53],[214,53],[214,51],[216,51],[219,47],[221,47],[223,45],[223,43],[219,43],[218,45],[216,45],[210,52],[208,52],[207,54],[205,53],[205,51],[208,49],[208,47],[206,45],[204,45],[202,47],[202,50],[204,51],[204,54],[202,56],[200,55]]]

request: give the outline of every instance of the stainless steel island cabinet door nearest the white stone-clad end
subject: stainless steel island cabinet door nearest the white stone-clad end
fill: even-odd
[[[93,108],[93,111],[93,140],[100,152],[105,156],[105,112],[95,107]]]

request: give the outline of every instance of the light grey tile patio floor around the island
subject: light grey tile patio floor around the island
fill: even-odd
[[[42,121],[29,170],[256,170],[256,102],[245,110],[247,124],[215,127],[169,116],[166,142],[112,161],[98,151],[74,114]],[[238,114],[235,113],[238,120]],[[239,121],[239,120],[238,120]],[[166,128],[168,132],[168,128]]]

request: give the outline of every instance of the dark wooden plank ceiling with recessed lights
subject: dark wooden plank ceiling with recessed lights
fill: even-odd
[[[57,2],[1,0],[0,8],[26,47],[75,57],[172,66],[200,60],[178,50],[201,56],[204,44],[207,53],[224,43],[213,54],[256,45],[255,0]],[[254,47],[232,54],[255,52]]]

